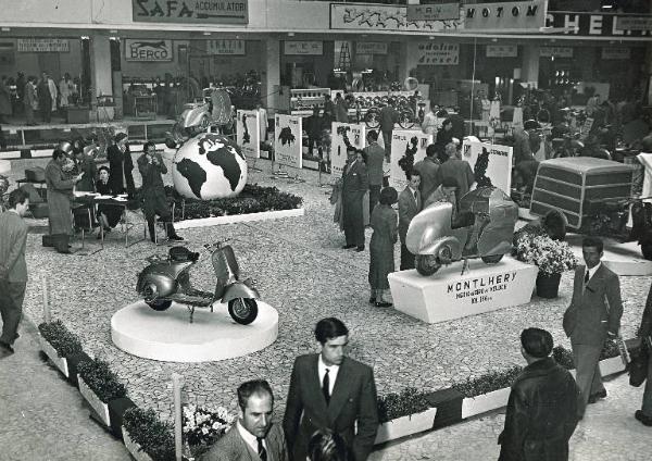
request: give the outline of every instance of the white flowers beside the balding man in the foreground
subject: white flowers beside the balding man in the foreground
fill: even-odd
[[[224,407],[204,408],[196,404],[184,407],[184,437],[192,456],[198,457],[226,434],[236,416]]]

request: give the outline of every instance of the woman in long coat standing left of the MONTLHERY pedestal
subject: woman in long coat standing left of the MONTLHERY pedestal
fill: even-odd
[[[380,191],[380,200],[372,212],[372,240],[369,241],[369,285],[372,297],[369,303],[377,308],[388,308],[384,296],[389,289],[387,275],[394,272],[393,247],[399,235],[397,212],[391,208],[397,202],[399,194],[393,187],[386,187]]]

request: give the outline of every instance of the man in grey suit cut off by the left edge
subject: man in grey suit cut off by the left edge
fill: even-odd
[[[18,323],[27,287],[27,224],[22,217],[28,208],[27,192],[15,189],[9,195],[9,210],[0,213],[0,352],[5,354],[13,353],[12,345],[18,337]]]

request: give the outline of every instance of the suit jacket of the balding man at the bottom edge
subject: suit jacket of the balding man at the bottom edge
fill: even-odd
[[[283,428],[278,424],[272,424],[265,437],[267,446],[267,461],[288,461]],[[201,461],[261,461],[258,452],[248,445],[238,427],[234,424],[201,458]]]

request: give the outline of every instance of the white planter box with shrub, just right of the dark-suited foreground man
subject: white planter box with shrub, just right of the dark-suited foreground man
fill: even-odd
[[[405,437],[432,428],[436,408],[414,387],[408,387],[401,394],[388,394],[378,399],[380,425],[375,444]]]

